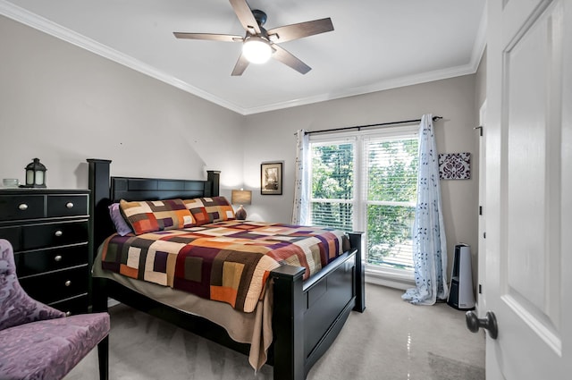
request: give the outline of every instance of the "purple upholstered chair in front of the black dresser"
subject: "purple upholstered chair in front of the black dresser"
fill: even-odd
[[[97,345],[99,377],[108,377],[109,315],[65,317],[26,294],[13,249],[0,239],[0,379],[61,379]]]

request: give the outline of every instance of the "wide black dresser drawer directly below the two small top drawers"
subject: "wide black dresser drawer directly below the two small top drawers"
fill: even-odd
[[[22,249],[40,249],[88,241],[88,221],[22,226]]]

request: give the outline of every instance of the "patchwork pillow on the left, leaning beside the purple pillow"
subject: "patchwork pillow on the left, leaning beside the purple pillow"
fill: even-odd
[[[193,215],[190,214],[181,199],[133,202],[122,199],[119,206],[133,232],[137,235],[195,225]]]

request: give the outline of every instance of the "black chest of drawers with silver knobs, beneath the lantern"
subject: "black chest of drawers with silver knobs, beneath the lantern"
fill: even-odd
[[[88,312],[89,190],[1,189],[0,238],[10,241],[29,296]]]

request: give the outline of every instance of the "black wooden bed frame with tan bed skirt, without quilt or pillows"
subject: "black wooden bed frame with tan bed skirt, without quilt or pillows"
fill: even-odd
[[[306,280],[303,266],[282,265],[269,271],[263,296],[252,312],[104,270],[104,243],[115,232],[110,205],[121,199],[218,197],[220,183],[215,171],[207,172],[206,181],[166,180],[112,177],[110,166],[110,160],[88,159],[94,310],[105,310],[108,298],[118,300],[244,353],[255,369],[272,365],[275,380],[301,380],[330,347],[350,312],[366,308],[361,232],[349,233],[349,249]]]

